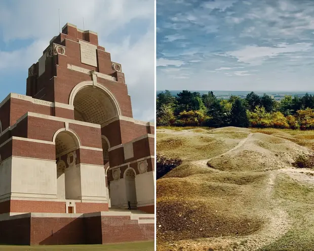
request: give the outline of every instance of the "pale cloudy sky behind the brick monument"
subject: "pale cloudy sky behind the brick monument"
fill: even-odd
[[[134,118],[154,118],[153,0],[0,1],[0,102],[24,94],[28,68],[67,22],[98,33],[99,45],[121,63]]]

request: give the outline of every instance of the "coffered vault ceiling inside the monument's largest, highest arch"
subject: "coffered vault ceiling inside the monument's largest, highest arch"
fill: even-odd
[[[117,116],[117,109],[111,98],[95,87],[84,87],[74,97],[74,119],[102,124]]]

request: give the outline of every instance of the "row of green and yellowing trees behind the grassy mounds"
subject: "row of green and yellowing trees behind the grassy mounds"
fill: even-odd
[[[166,90],[156,99],[156,124],[206,127],[314,129],[314,96],[285,96],[281,101],[254,92],[246,98],[219,99],[213,92],[182,91],[176,97]]]

